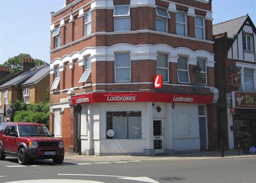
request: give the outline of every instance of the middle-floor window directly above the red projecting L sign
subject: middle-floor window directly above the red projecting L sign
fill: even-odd
[[[168,76],[168,55],[167,54],[158,54],[156,60],[156,74],[162,75],[162,81],[169,81]]]

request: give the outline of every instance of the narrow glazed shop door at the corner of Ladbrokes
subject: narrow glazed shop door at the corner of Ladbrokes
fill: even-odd
[[[164,122],[162,120],[153,121],[154,129],[154,149],[156,154],[165,153],[164,149]]]

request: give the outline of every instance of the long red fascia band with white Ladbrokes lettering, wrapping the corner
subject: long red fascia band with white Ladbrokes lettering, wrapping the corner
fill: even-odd
[[[170,102],[210,104],[213,95],[171,94],[158,92],[90,93],[71,97],[73,105],[108,102]]]

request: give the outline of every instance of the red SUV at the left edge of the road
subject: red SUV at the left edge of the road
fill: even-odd
[[[54,138],[43,124],[8,122],[0,125],[0,160],[14,156],[21,165],[32,159],[52,159],[61,164],[64,153],[63,141]]]

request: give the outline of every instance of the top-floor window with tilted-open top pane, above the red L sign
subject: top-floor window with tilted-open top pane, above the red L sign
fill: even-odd
[[[166,8],[156,8],[156,31],[168,32],[168,18],[170,18],[170,15]]]

